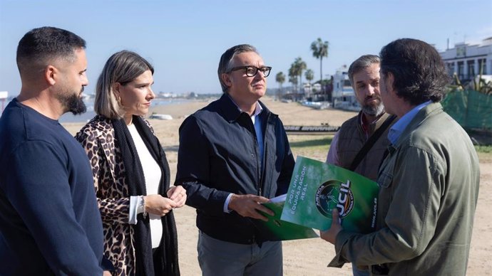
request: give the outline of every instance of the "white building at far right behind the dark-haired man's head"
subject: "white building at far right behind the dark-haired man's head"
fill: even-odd
[[[454,48],[440,54],[449,75],[456,73],[461,82],[480,75],[480,66],[482,75],[492,75],[492,37],[484,39],[478,45],[456,43]]]

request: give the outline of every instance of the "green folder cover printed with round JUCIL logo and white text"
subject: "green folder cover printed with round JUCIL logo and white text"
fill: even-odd
[[[339,166],[298,156],[282,221],[327,230],[338,208],[342,227],[370,233],[376,226],[376,182]]]

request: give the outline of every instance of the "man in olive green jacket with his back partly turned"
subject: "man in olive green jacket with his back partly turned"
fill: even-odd
[[[480,171],[468,134],[439,103],[446,67],[433,46],[410,38],[379,56],[381,98],[399,121],[379,168],[377,230],[343,230],[335,211],[322,233],[335,245],[330,265],[369,265],[372,275],[466,275]]]

